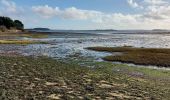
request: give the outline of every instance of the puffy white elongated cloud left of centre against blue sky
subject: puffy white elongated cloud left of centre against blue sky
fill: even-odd
[[[45,6],[34,6],[32,10],[41,15],[44,18],[51,18],[51,17],[60,17],[63,19],[79,19],[79,20],[86,20],[90,18],[97,17],[101,14],[99,11],[92,11],[92,10],[81,10],[75,7],[66,8],[64,10],[59,9],[59,7],[52,8],[48,5]]]

